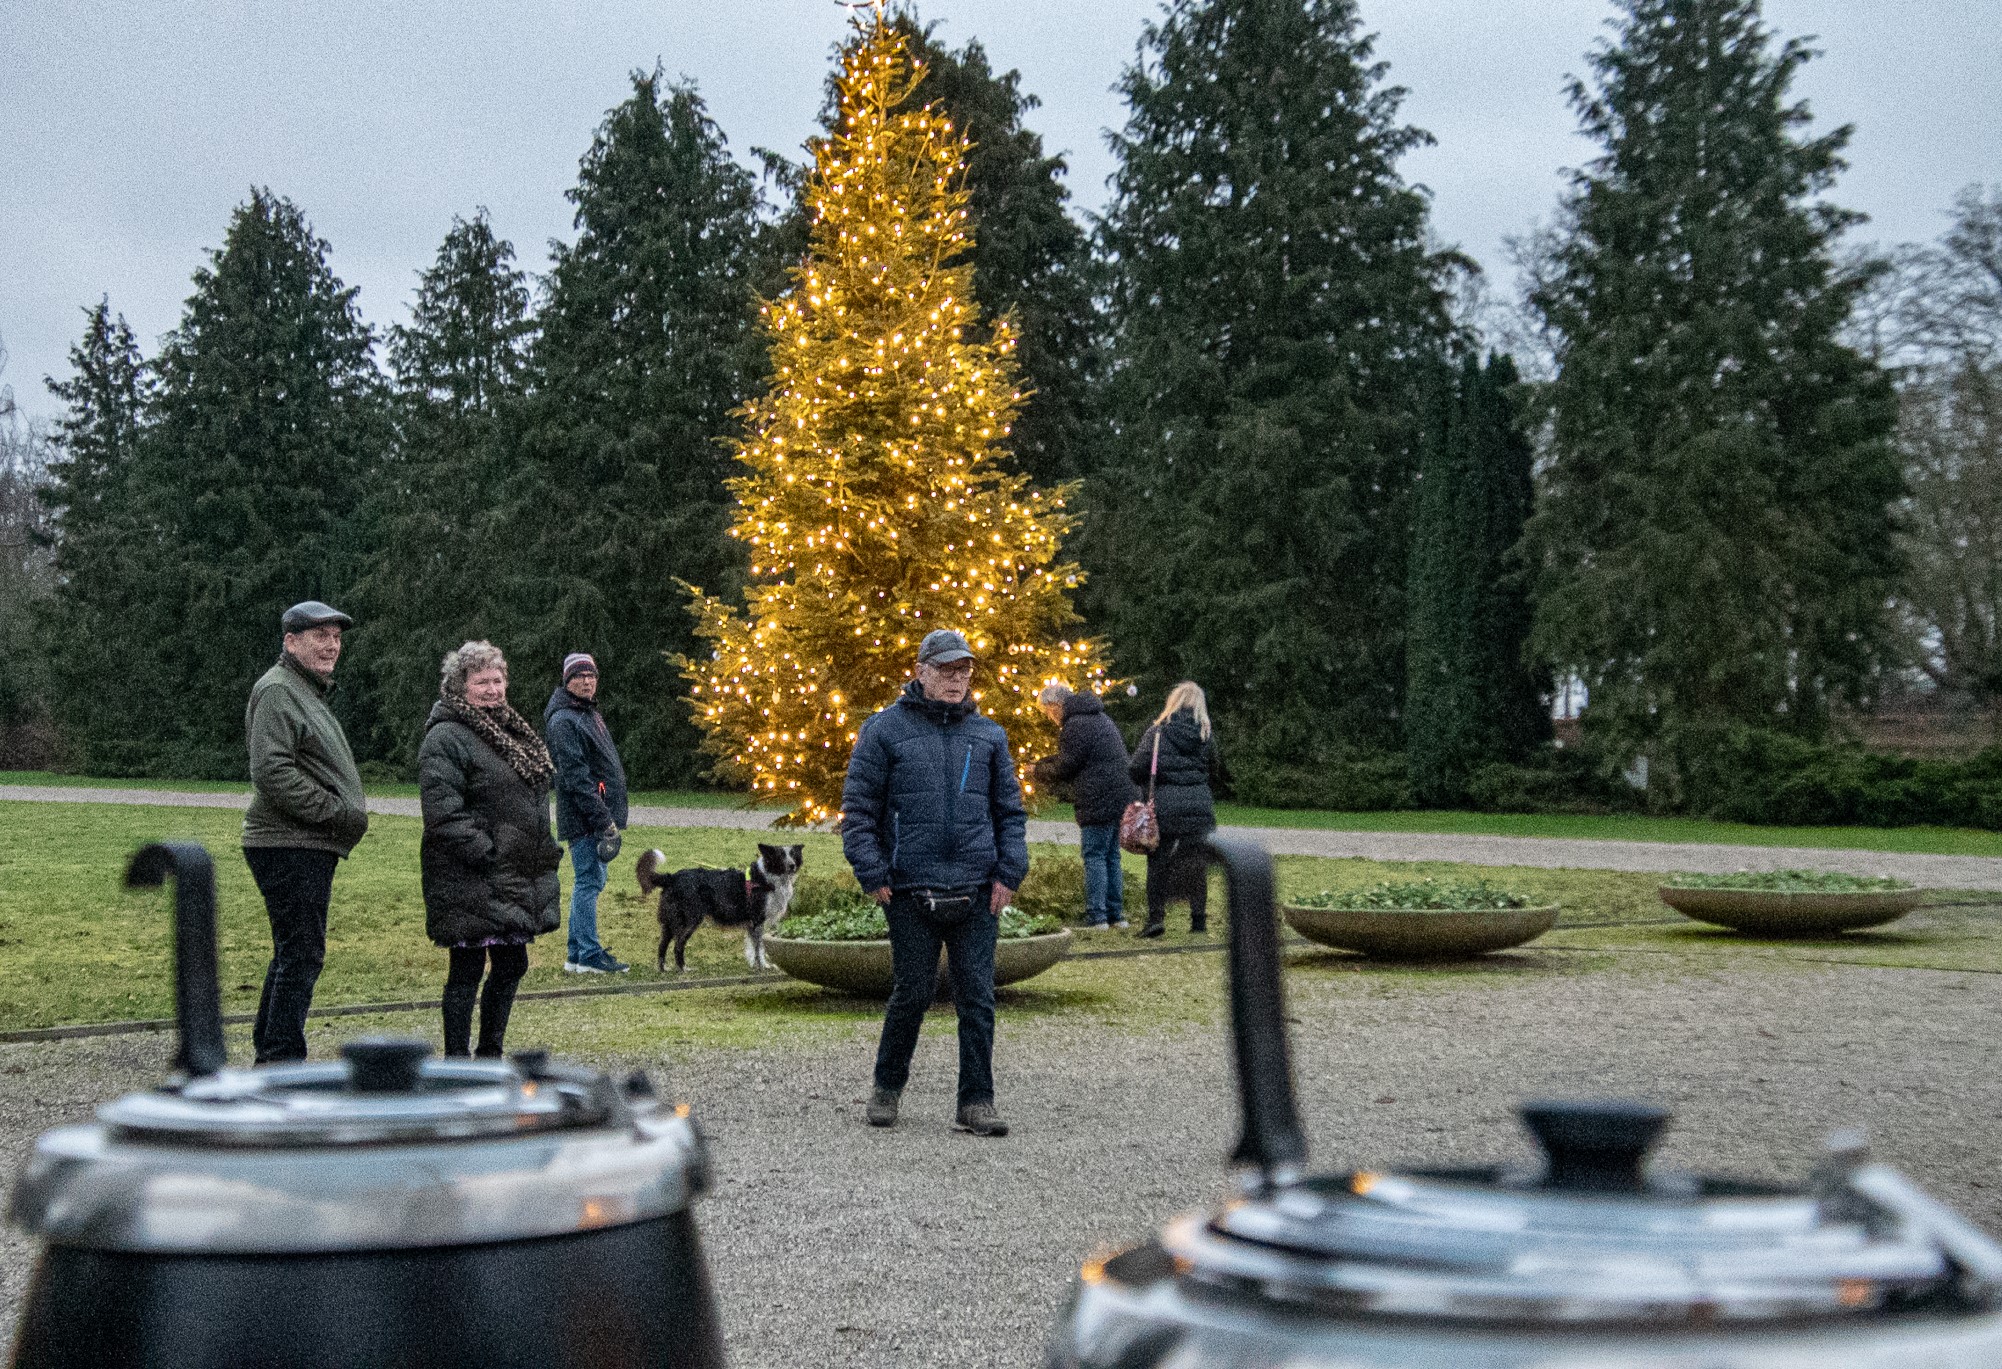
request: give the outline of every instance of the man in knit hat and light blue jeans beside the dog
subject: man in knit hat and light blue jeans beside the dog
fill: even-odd
[[[575,877],[563,969],[623,975],[633,967],[599,945],[599,895],[627,825],[625,765],[599,713],[599,662],[591,652],[573,650],[563,658],[563,682],[543,709],[543,735],[557,763],[557,839],[571,843]]]

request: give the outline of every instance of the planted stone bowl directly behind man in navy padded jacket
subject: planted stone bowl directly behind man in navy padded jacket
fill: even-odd
[[[793,913],[765,937],[771,963],[793,979],[889,997],[889,915],[853,879],[847,887],[801,889]],[[801,897],[805,895],[805,897]],[[1071,949],[1071,933],[1049,913],[1003,909],[995,945],[995,985],[1041,975]],[[939,971],[941,991],[945,969]]]

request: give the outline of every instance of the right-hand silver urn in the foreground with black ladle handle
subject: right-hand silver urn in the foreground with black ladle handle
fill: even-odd
[[[1976,1369],[2002,1247],[1836,1141],[1798,1185],[1646,1167],[1638,1103],[1524,1109],[1534,1169],[1307,1175],[1271,859],[1231,895],[1243,1197],[1091,1261],[1049,1369]]]

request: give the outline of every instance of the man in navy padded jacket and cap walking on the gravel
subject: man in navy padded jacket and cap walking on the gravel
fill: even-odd
[[[959,1011],[955,1127],[1005,1137],[995,1111],[995,941],[1029,873],[1027,815],[1007,733],[973,709],[973,650],[927,632],[917,678],[863,723],[841,789],[841,853],[889,913],[891,979],[869,1125],[893,1127],[939,975]]]

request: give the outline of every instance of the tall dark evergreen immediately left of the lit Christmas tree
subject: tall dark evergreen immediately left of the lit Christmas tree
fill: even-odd
[[[695,636],[675,582],[739,574],[721,438],[761,374],[757,184],[695,90],[655,72],[605,118],[571,200],[511,510],[531,570],[513,570],[503,646],[531,678],[591,650],[633,779],[689,783],[699,739],[667,656]]]

